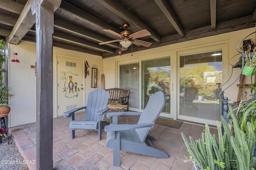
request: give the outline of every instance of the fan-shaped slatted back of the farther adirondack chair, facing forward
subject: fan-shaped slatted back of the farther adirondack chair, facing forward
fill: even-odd
[[[88,94],[88,102],[85,109],[85,120],[99,121],[100,116],[94,113],[106,107],[108,104],[108,98],[109,93],[104,89],[97,89],[90,92]],[[104,120],[104,115],[102,116],[101,121]]]

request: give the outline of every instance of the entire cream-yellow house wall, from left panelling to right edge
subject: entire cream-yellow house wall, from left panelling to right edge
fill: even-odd
[[[149,49],[145,51],[134,52],[133,56],[131,54],[111,57],[108,59],[103,59],[99,56],[88,55],[85,53],[80,53],[76,51],[70,51],[60,48],[53,48],[53,59],[55,59],[55,54],[82,58],[88,61],[90,66],[90,73],[93,64],[98,66],[98,88],[100,88],[100,75],[104,73],[105,75],[105,88],[113,88],[118,87],[117,84],[117,61],[125,61],[125,60],[137,60],[141,61],[142,59],[149,58],[157,58],[157,57],[165,57],[171,56],[171,63],[176,64],[177,62],[177,52],[193,49],[198,47],[204,47],[211,44],[218,44],[219,42],[224,42],[227,44],[227,54],[223,56],[223,61],[226,63],[227,68],[223,70],[223,83],[229,78],[232,72],[232,66],[229,65],[228,61],[236,54],[238,54],[236,47],[240,40],[253,32],[255,29],[245,29],[241,31],[234,31],[231,33],[225,33],[222,35],[215,35],[211,37],[205,37],[201,39],[195,39],[192,41],[186,41],[182,43],[177,43],[173,45],[168,45],[164,47],[158,47],[154,49]],[[255,42],[255,34],[250,35],[250,37],[246,39],[251,39]],[[16,49],[15,49],[16,48]],[[15,45],[10,44],[8,49],[8,59],[9,61],[13,59],[14,49],[18,53],[18,59],[20,63],[12,63],[9,62],[9,86],[10,91],[14,95],[10,99],[11,112],[9,116],[10,127],[23,125],[27,123],[32,123],[36,121],[36,76],[34,69],[30,68],[30,65],[34,65],[36,62],[36,43],[31,43],[28,41],[21,41],[19,45],[15,47]],[[231,64],[234,64],[235,61],[240,57],[237,55],[232,61]],[[174,85],[177,86],[177,80],[174,79],[176,76],[177,66],[172,66],[171,70],[172,77],[171,81]],[[228,83],[225,85],[227,87],[239,76],[240,68],[235,68],[233,70],[233,76],[230,78]],[[250,84],[250,77],[246,76],[244,83]],[[239,84],[239,79],[234,83],[233,86],[228,88],[225,91],[225,96],[228,96],[230,102],[235,102],[238,94],[238,88],[236,84]],[[86,77],[85,80],[85,103],[87,102],[87,96],[90,91],[94,90],[91,88],[91,74]],[[55,98],[55,96],[54,96]],[[54,100],[54,99],[53,99]],[[55,111],[56,106],[54,104],[53,110]],[[56,113],[53,113],[55,116]]]

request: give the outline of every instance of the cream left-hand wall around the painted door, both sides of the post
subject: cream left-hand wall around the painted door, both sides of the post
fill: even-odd
[[[9,114],[9,126],[14,127],[36,122],[36,76],[35,70],[30,68],[30,65],[34,65],[36,62],[36,43],[21,41],[16,47],[9,44],[8,48],[8,81],[10,92],[14,95],[10,98],[11,111]],[[15,48],[16,53],[18,53],[18,60],[20,60],[20,63],[10,62],[14,58],[13,53]],[[93,64],[98,66],[98,87],[100,88],[102,57],[54,47],[53,63],[55,63],[56,54],[65,55],[67,57],[83,58],[88,61],[90,66],[90,76],[87,76],[85,79],[85,101],[87,102],[88,93],[94,90],[94,88],[91,88],[91,66]],[[55,70],[55,68],[53,68],[53,70]],[[54,82],[56,82],[55,79]],[[53,92],[55,95],[55,89],[53,89]],[[56,96],[53,96],[53,117],[56,117],[55,101]]]

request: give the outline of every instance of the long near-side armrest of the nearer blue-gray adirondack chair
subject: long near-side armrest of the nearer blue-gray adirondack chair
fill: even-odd
[[[126,130],[132,130],[132,129],[140,129],[143,127],[152,127],[154,126],[154,122],[150,123],[142,123],[142,124],[136,124],[136,125],[108,125],[104,127],[105,132],[113,132],[113,131],[126,131]]]

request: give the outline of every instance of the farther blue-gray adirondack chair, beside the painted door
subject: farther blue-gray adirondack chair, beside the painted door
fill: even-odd
[[[71,139],[75,137],[76,129],[92,129],[98,131],[99,141],[101,139],[102,121],[108,110],[109,93],[104,89],[96,89],[88,94],[87,106],[78,107],[63,113],[64,117],[70,117],[69,128]],[[75,120],[75,112],[85,109],[85,120]]]

